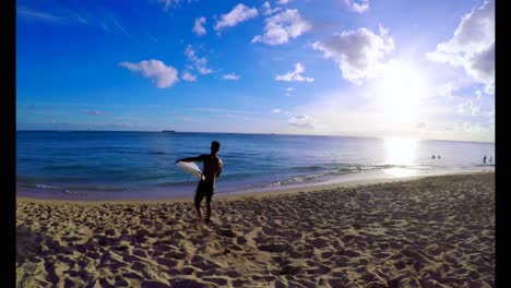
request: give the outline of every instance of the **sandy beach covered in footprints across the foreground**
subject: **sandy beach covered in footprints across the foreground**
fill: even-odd
[[[216,197],[207,225],[17,199],[16,241],[17,287],[495,287],[495,173]]]

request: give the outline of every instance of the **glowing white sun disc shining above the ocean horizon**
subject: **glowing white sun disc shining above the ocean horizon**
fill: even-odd
[[[393,123],[415,123],[425,108],[430,88],[426,74],[409,62],[391,61],[376,81],[377,109]]]

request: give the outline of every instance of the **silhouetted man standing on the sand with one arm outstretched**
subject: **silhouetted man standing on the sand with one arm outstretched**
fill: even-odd
[[[211,154],[202,154],[198,157],[188,157],[183,159],[176,160],[178,161],[202,161],[202,175],[204,178],[199,181],[197,184],[195,195],[193,200],[195,202],[195,209],[199,216],[199,219],[202,220],[201,214],[201,202],[202,200],[206,199],[206,218],[204,219],[205,223],[211,221],[211,201],[213,194],[215,192],[215,179],[218,178],[222,173],[222,168],[224,164],[222,159],[217,156],[219,151],[219,142],[213,141],[211,142]]]

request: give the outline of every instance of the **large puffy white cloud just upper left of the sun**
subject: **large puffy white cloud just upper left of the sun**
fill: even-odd
[[[380,35],[363,27],[335,34],[323,41],[312,45],[323,52],[324,58],[332,58],[346,80],[361,85],[367,77],[375,76],[381,68],[381,61],[394,50],[394,40],[388,31],[380,26]]]

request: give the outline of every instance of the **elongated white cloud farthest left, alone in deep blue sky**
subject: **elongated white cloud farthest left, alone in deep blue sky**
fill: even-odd
[[[156,82],[156,87],[166,88],[173,86],[178,82],[178,72],[173,67],[167,67],[159,60],[143,60],[139,63],[121,62],[120,67],[129,69],[131,71],[141,72],[144,77],[148,77]]]

